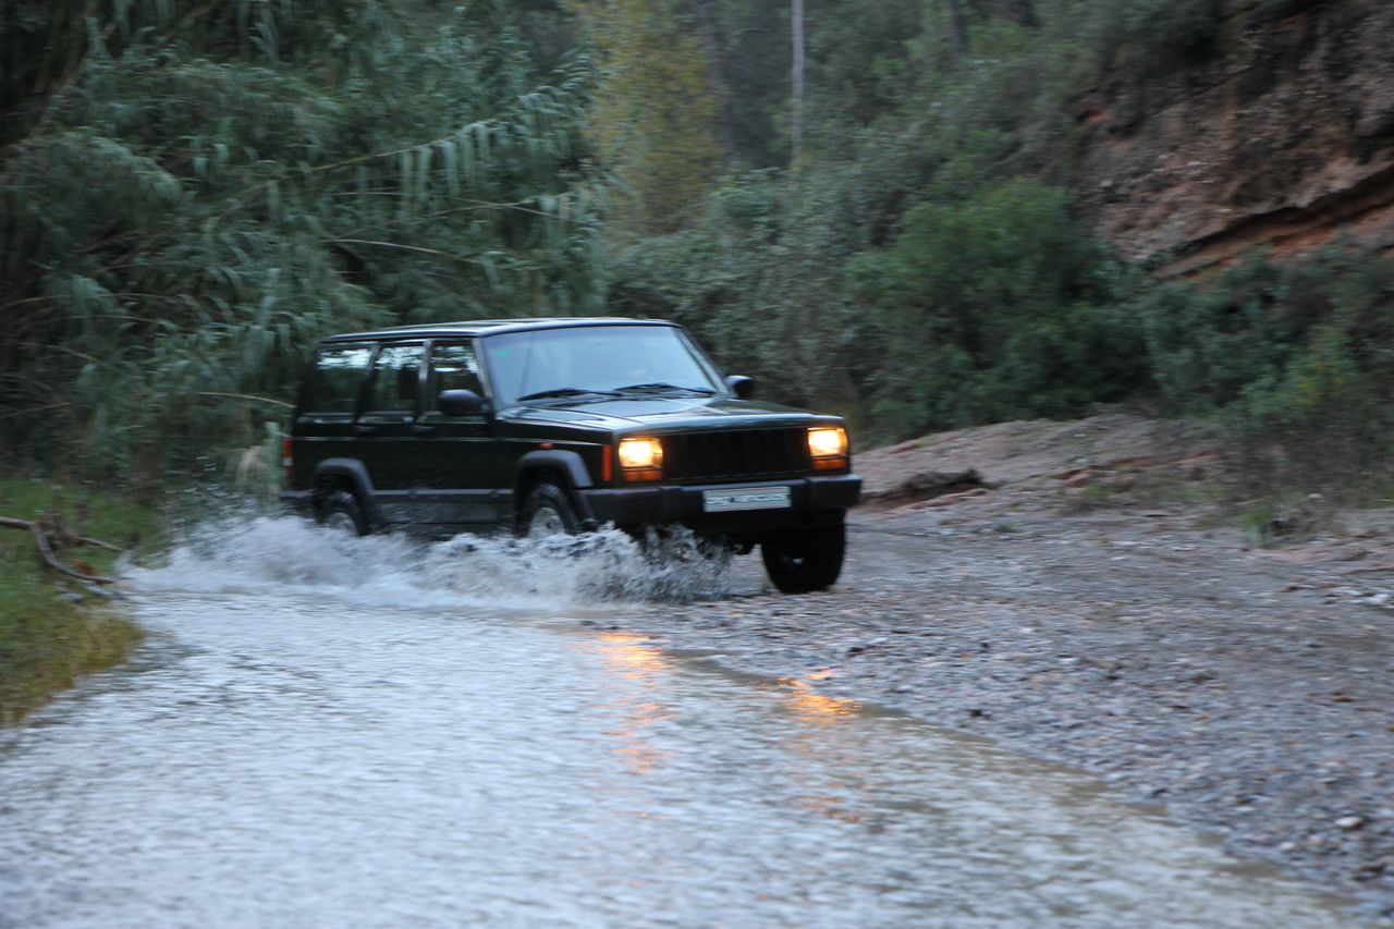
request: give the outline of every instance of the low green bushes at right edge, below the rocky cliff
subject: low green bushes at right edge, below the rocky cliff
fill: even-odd
[[[1359,497],[1394,452],[1394,261],[1255,258],[1138,301],[1168,410],[1231,424],[1249,477]]]

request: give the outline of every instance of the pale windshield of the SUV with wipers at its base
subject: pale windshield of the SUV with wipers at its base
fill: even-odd
[[[717,372],[672,326],[570,326],[484,339],[495,399],[712,395]]]

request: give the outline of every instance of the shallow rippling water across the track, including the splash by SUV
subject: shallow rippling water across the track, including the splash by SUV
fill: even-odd
[[[4,926],[1335,926],[1076,773],[677,660],[677,544],[223,526],[138,658],[0,734]]]

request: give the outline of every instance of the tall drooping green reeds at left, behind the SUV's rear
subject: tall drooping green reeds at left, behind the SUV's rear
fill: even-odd
[[[84,22],[45,8],[6,20],[38,47]],[[85,27],[0,162],[11,449],[159,480],[259,441],[323,333],[601,308],[592,70],[544,74],[507,4],[152,0]]]

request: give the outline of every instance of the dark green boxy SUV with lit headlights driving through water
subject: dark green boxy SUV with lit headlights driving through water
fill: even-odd
[[[779,590],[821,590],[861,490],[845,424],[751,386],[648,319],[332,336],[286,439],[282,499],[358,534],[686,526],[760,545]]]

